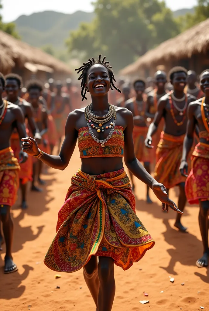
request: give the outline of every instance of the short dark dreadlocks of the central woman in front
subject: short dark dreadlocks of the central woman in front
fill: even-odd
[[[116,82],[115,77],[114,77],[114,72],[113,72],[113,67],[109,66],[109,62],[105,61],[106,56],[101,60],[102,54],[100,54],[98,56],[97,59],[89,58],[88,62],[83,63],[83,66],[81,66],[80,68],[75,69],[75,71],[78,71],[77,73],[81,73],[80,77],[78,78],[78,80],[81,80],[81,96],[82,96],[82,101],[86,98],[86,86],[85,86],[85,82],[87,79],[87,72],[88,70],[95,64],[100,64],[102,66],[104,66],[105,68],[107,68],[108,73],[109,73],[109,79],[110,79],[110,88],[111,90],[116,89],[119,93],[121,93],[121,90],[114,85],[114,82]]]

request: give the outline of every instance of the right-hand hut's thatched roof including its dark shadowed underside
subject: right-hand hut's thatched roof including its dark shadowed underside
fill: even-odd
[[[169,39],[155,49],[152,49],[140,57],[135,63],[130,64],[120,71],[122,75],[135,75],[139,71],[150,68],[156,70],[159,65],[165,68],[173,67],[176,64],[189,67],[197,72],[202,71],[204,65],[209,66],[209,18],[200,24],[184,31],[175,38]],[[207,58],[200,66],[196,63],[195,58],[203,54]],[[187,60],[182,62],[182,60]],[[183,64],[184,63],[184,64]],[[195,68],[196,67],[196,68]],[[199,68],[201,67],[201,68]]]

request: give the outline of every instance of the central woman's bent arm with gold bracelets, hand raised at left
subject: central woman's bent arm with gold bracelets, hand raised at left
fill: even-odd
[[[42,157],[39,158],[42,162],[54,169],[64,170],[71,159],[72,153],[75,149],[78,132],[75,129],[75,123],[77,120],[77,112],[73,111],[68,115],[67,122],[65,125],[65,139],[63,141],[60,153],[58,156],[52,156],[44,153]],[[22,139],[22,148],[30,156],[37,156],[39,154],[39,148],[36,141],[31,138]]]

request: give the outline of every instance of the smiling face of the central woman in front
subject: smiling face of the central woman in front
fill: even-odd
[[[109,92],[110,79],[107,68],[103,65],[95,64],[87,72],[86,91],[91,96],[104,96]]]

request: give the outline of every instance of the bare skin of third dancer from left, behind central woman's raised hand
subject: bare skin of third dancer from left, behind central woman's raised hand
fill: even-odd
[[[38,88],[31,88],[29,91],[29,99],[30,103],[32,104],[32,107],[34,110],[36,110],[39,107],[39,103],[42,104],[42,115],[41,115],[41,121],[37,122],[37,126],[40,131],[40,136],[42,137],[47,131],[48,131],[48,114],[45,107],[45,101],[41,100],[41,91]],[[47,142],[45,139],[42,139],[42,142],[44,146],[47,145]],[[40,178],[40,174],[42,172],[42,163],[37,161],[33,163],[33,181],[31,184],[31,190],[41,192],[42,190],[35,186],[35,181],[39,182],[39,184],[43,185],[45,182]]]

